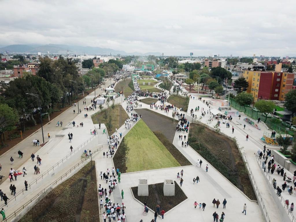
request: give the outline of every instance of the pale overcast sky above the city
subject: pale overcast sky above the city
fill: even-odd
[[[164,55],[296,55],[294,1],[0,0],[0,44]]]

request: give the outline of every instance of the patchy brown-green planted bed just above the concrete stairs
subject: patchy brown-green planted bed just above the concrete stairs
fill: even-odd
[[[109,130],[106,120],[106,112],[108,112],[112,117],[112,127]],[[104,109],[100,112],[91,115],[91,119],[94,124],[104,123],[107,127],[108,134],[112,135],[115,132],[115,128],[119,128],[124,124],[124,121],[128,118],[128,114],[122,108],[121,105],[115,105],[114,109],[111,108],[111,104],[108,109]]]

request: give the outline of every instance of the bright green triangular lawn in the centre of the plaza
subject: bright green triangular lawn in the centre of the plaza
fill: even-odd
[[[126,172],[180,166],[143,120],[139,120],[124,138],[130,149]]]

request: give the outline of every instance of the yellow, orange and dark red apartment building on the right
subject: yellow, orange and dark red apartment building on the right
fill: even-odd
[[[249,83],[248,93],[254,95],[254,100],[281,100],[293,88],[294,73],[278,71],[246,70],[243,77]]]

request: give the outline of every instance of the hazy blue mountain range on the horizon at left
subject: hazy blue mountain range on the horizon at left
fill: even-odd
[[[56,45],[56,44],[48,44],[48,45],[9,45],[0,48],[0,52],[9,53],[47,53],[49,54],[67,54],[67,51],[70,54],[90,54],[90,55],[155,55],[160,56],[160,52],[125,52],[120,50],[108,49],[108,48],[100,48],[100,47],[91,47],[91,46],[68,46],[68,45]]]

